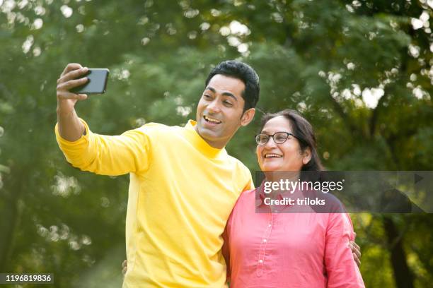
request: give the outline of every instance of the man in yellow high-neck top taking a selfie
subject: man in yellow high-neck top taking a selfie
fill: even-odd
[[[224,61],[206,80],[197,122],[100,136],[74,109],[87,95],[69,92],[86,82],[75,80],[86,71],[68,64],[57,80],[56,137],[74,167],[130,175],[123,287],[224,287],[221,234],[240,193],[253,188],[248,168],[224,147],[253,119],[257,74]]]

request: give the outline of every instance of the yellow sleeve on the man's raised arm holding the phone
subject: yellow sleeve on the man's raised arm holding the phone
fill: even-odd
[[[143,128],[126,131],[120,136],[92,133],[86,121],[86,135],[68,141],[54,128],[59,148],[72,166],[101,175],[122,175],[144,172],[149,167],[149,137]]]

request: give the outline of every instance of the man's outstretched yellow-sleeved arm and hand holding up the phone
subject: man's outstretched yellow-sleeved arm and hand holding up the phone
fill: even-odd
[[[129,130],[120,136],[92,133],[86,121],[79,119],[76,102],[87,95],[69,92],[86,83],[76,79],[88,71],[80,64],[68,64],[57,80],[57,143],[72,166],[103,175],[139,173],[149,165],[149,128]],[[148,124],[149,126],[150,124]]]

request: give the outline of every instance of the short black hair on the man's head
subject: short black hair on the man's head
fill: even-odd
[[[248,64],[236,60],[221,62],[215,68],[213,68],[209,73],[209,76],[207,76],[206,83],[204,85],[205,88],[207,87],[207,84],[209,84],[209,81],[212,79],[212,77],[217,74],[242,80],[242,82],[245,84],[245,90],[242,92],[242,97],[245,101],[243,111],[245,112],[246,110],[255,107],[255,104],[257,104],[259,99],[260,85],[258,75],[255,73],[253,68],[251,68]]]

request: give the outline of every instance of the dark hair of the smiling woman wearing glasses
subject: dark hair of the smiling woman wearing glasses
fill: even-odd
[[[263,126],[270,121],[270,119],[277,116],[284,116],[290,122],[291,132],[294,134],[296,139],[299,140],[301,150],[305,151],[306,148],[311,150],[311,160],[304,164],[301,171],[323,171],[321,159],[318,157],[316,147],[316,136],[314,136],[313,126],[308,122],[299,112],[292,109],[284,109],[277,113],[267,113],[262,116],[262,123],[260,124],[260,131]]]

